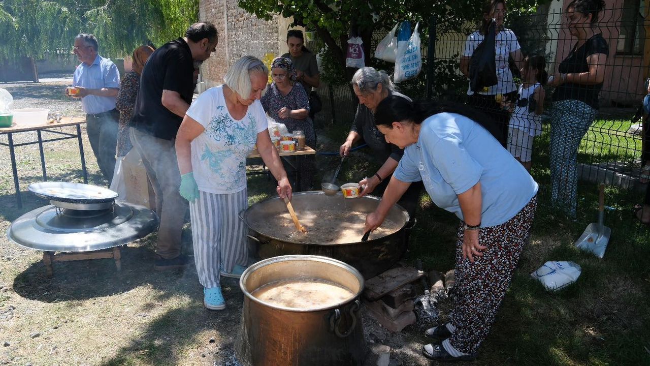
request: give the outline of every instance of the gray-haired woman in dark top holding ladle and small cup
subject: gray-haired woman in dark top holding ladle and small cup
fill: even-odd
[[[383,191],[386,189],[388,182],[391,180],[393,171],[397,167],[398,162],[404,154],[404,150],[396,147],[391,143],[387,143],[383,134],[377,130],[374,124],[374,111],[382,100],[389,95],[400,96],[409,102],[411,98],[404,94],[395,91],[395,85],[383,71],[375,70],[372,67],[359,68],[352,76],[352,89],[354,94],[359,98],[359,107],[354,116],[354,124],[348,138],[345,139],[339,154],[341,156],[348,156],[352,145],[363,139],[368,147],[372,150],[378,163],[382,167],[375,173],[368,173],[369,178],[365,178],[359,182],[363,188],[361,195],[374,194],[382,197]],[[411,225],[415,219],[415,208],[418,204],[420,191],[422,190],[422,182],[411,184],[409,190],[404,193],[402,199],[398,202],[404,207],[411,218]],[[410,226],[410,225],[409,225]]]

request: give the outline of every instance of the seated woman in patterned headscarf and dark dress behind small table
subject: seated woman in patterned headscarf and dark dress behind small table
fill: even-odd
[[[302,84],[296,83],[296,70],[290,59],[276,57],[271,63],[273,82],[261,99],[262,106],[276,122],[285,124],[289,132],[303,131],[305,143],[313,147],[316,143],[314,124],[309,117],[309,97]],[[298,159],[301,171],[300,188],[310,190],[316,173],[315,158],[307,155]]]

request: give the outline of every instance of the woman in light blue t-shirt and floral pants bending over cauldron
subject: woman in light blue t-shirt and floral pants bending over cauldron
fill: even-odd
[[[437,339],[422,348],[439,361],[471,360],[489,333],[524,244],[537,206],[538,184],[503,148],[486,115],[467,106],[408,102],[389,96],[374,122],[404,156],[366,218],[379,227],[388,210],[422,180],[434,203],[461,219],[456,244],[458,296],[450,322],[426,331]],[[486,126],[486,127],[484,127]]]

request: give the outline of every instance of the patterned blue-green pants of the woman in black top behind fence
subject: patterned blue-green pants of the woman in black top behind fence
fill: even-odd
[[[596,113],[579,100],[553,102],[551,110],[551,200],[571,218],[577,206],[578,147]]]

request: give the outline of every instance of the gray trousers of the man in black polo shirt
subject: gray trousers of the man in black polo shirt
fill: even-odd
[[[131,128],[131,142],[156,193],[156,213],[161,220],[156,254],[162,259],[174,259],[181,255],[181,233],[187,212],[187,201],[178,191],[181,173],[174,140],[159,139]]]

